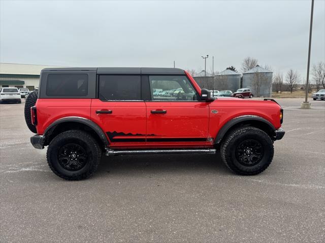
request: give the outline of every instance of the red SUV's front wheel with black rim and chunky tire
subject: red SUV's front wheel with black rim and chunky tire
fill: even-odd
[[[221,145],[224,164],[239,175],[256,175],[268,168],[274,154],[271,138],[262,130],[243,127],[231,132]]]

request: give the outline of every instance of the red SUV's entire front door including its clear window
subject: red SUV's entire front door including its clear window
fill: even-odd
[[[151,100],[146,101],[147,145],[192,147],[208,142],[209,103],[185,75],[149,75]],[[160,90],[162,92],[154,92]]]

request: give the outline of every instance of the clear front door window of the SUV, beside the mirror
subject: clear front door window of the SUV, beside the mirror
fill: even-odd
[[[152,100],[197,101],[198,94],[184,75],[149,76]]]

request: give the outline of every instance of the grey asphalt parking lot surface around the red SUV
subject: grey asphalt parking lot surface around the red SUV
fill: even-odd
[[[325,101],[278,99],[271,166],[237,176],[219,155],[104,157],[64,181],[29,143],[22,104],[0,105],[1,242],[324,242]]]

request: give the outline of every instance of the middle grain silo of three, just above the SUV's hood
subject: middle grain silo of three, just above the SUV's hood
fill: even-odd
[[[236,92],[240,89],[240,76],[240,73],[234,72],[231,69],[225,69],[215,75],[214,89]]]

